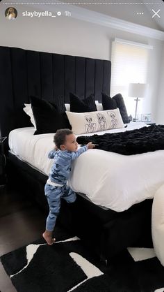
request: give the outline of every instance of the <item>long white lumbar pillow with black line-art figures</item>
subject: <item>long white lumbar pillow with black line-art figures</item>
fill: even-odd
[[[98,112],[66,112],[75,134],[93,133],[108,129],[124,128],[120,110]]]

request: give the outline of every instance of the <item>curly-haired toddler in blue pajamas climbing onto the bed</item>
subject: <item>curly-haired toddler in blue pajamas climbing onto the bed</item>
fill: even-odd
[[[47,244],[55,242],[52,233],[56,224],[56,218],[60,211],[60,198],[64,198],[67,203],[74,203],[76,194],[68,187],[67,180],[71,172],[72,161],[87,149],[95,147],[92,142],[78,149],[78,143],[73,132],[69,129],[60,129],[54,136],[56,147],[49,152],[49,159],[54,159],[54,164],[49,173],[49,179],[44,191],[49,203],[49,215],[46,221],[46,230],[42,234]]]

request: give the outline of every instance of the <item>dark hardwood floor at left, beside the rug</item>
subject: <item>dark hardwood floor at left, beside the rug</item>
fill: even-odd
[[[0,186],[0,256],[38,240],[44,231],[46,214],[20,191]],[[15,292],[0,262],[0,292]]]

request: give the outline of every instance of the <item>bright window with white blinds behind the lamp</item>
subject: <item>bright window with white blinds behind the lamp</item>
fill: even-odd
[[[129,115],[134,116],[134,99],[128,97],[129,83],[147,83],[147,68],[150,45],[115,39],[112,43],[111,96],[121,93]],[[138,96],[140,98],[140,96]],[[142,113],[142,99],[138,114]]]

